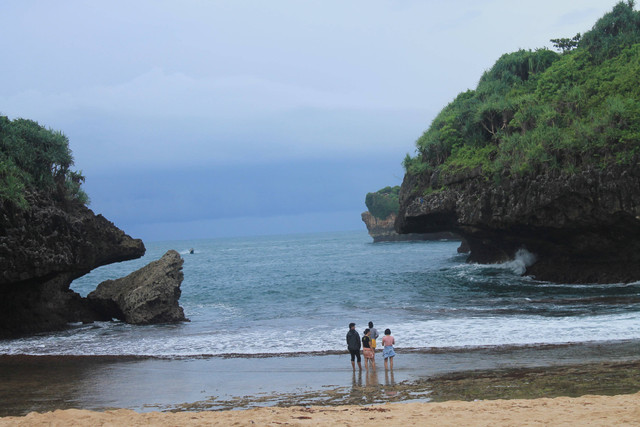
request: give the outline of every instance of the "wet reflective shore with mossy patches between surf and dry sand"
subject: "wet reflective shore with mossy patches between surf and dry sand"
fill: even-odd
[[[393,372],[353,372],[348,354],[271,357],[0,356],[0,416],[57,409],[207,411],[512,399],[640,390],[637,341],[399,349]]]

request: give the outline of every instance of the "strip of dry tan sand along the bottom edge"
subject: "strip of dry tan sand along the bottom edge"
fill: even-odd
[[[577,398],[269,407],[242,411],[105,412],[58,410],[0,418],[0,426],[640,426],[640,392]]]

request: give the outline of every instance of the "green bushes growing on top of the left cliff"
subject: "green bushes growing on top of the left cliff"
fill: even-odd
[[[34,189],[86,204],[84,176],[71,166],[69,139],[62,132],[0,116],[0,200],[26,209],[25,191]]]

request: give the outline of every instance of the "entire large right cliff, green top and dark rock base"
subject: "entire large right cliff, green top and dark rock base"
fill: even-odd
[[[502,55],[404,160],[396,229],[453,231],[469,261],[523,249],[527,274],[640,280],[640,12],[619,2],[583,36]]]

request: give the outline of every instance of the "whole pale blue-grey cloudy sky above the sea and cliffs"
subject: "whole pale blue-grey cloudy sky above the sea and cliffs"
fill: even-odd
[[[613,0],[3,0],[0,115],[62,131],[145,241],[364,230],[367,192],[504,53]]]

